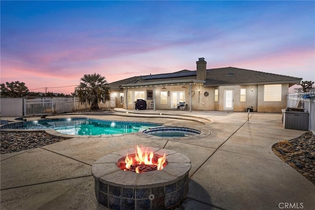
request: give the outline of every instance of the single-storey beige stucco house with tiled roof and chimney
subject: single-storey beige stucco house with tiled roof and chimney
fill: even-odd
[[[134,109],[143,99],[147,109],[281,112],[288,89],[302,78],[234,67],[207,69],[199,58],[196,70],[134,76],[109,84],[116,107]],[[184,104],[183,104],[184,103]]]

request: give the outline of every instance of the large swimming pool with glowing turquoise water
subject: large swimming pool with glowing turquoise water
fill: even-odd
[[[18,122],[1,126],[1,129],[54,129],[70,135],[115,135],[138,132],[156,126],[161,124],[74,117]]]

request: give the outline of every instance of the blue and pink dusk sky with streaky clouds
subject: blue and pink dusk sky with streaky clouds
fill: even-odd
[[[0,1],[0,83],[236,67],[315,81],[315,1]],[[68,87],[64,87],[68,86]],[[63,88],[57,88],[63,87]]]

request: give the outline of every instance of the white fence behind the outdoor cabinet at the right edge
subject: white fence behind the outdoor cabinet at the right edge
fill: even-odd
[[[302,107],[310,114],[309,131],[315,133],[315,91],[287,95],[287,107],[297,107],[300,101],[302,102]]]

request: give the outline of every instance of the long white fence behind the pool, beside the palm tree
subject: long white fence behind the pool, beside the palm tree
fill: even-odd
[[[116,107],[115,98],[105,103],[101,102],[98,106],[99,108],[114,108]],[[1,117],[21,117],[87,110],[91,105],[81,104],[78,98],[1,98],[0,107]]]

